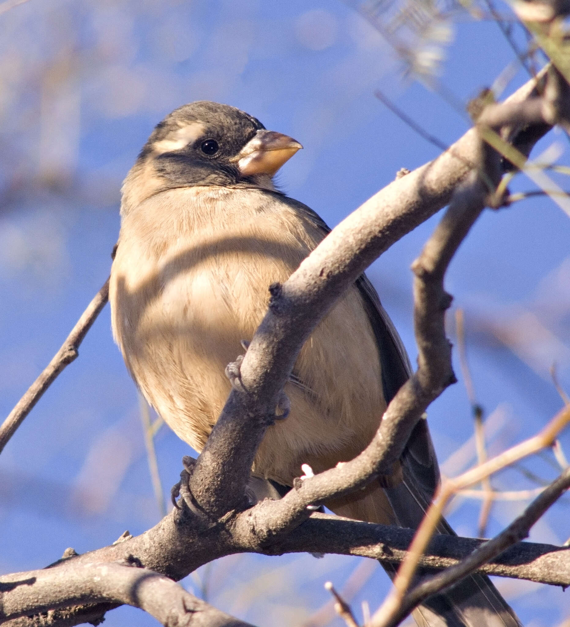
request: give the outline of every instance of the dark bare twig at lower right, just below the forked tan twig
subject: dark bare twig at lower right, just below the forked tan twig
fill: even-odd
[[[390,616],[389,620],[379,621],[373,619],[372,624],[374,627],[396,627],[400,621],[408,616],[422,601],[425,601],[426,598],[453,586],[453,584],[457,584],[463,577],[475,572],[478,567],[489,559],[499,555],[502,551],[515,544],[515,542],[519,542],[527,537],[530,527],[536,523],[542,514],[544,514],[569,487],[570,469],[567,469],[556,481],[552,482],[539,497],[530,503],[529,507],[527,507],[504,531],[495,536],[492,540],[488,540],[488,542],[482,544],[472,555],[457,564],[457,566],[453,566],[431,577],[427,581],[418,584],[418,586],[403,598],[398,611],[394,613],[393,616]]]

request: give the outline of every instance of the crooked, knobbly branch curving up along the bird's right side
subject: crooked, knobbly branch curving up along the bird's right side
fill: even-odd
[[[272,508],[280,508],[278,525],[273,517],[268,535],[298,524],[307,505],[352,492],[379,474],[388,474],[401,454],[409,435],[428,405],[455,382],[451,368],[451,345],[445,335],[445,311],[451,297],[443,289],[443,277],[451,258],[485,206],[487,190],[472,172],[468,183],[458,191],[440,225],[412,266],[414,316],[418,343],[418,371],[399,389],[389,404],[376,435],[362,453],[342,466],[332,468],[295,486]],[[263,529],[262,510],[253,508],[245,522]],[[256,518],[257,517],[257,518]]]

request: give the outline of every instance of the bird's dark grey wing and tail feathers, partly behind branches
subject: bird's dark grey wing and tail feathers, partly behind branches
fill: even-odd
[[[312,209],[287,197],[283,200],[294,206],[325,234],[330,233],[329,226]],[[384,398],[389,403],[411,376],[412,367],[402,340],[372,283],[362,274],[356,280],[356,286],[374,330],[381,362]],[[440,482],[438,462],[425,419],[421,419],[413,429],[400,461],[403,482],[393,488],[384,488],[384,492],[398,524],[416,529]],[[438,525],[438,532],[455,535],[443,518]],[[384,568],[389,576],[394,577],[396,571],[393,567]],[[429,573],[420,571],[418,579],[427,574]],[[512,609],[490,579],[479,574],[465,577],[450,591],[431,597],[416,608],[413,614],[421,627],[520,627]]]

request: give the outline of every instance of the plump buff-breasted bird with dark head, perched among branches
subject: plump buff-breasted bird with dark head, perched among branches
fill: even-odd
[[[238,108],[193,102],[156,125],[122,186],[109,287],[113,337],[144,398],[198,452],[230,393],[226,366],[267,311],[268,287],[285,282],[330,231],[275,186],[275,174],[301,148]],[[278,498],[303,464],[319,473],[361,453],[411,372],[398,332],[361,275],[300,350],[284,388],[288,416],[268,428],[255,456],[255,494]],[[439,481],[420,419],[389,475],[325,505],[351,519],[414,529]],[[453,534],[443,519],[438,532]],[[421,627],[520,625],[479,574],[425,601],[414,618]]]

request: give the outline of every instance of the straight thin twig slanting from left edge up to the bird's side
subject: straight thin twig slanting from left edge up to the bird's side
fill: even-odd
[[[46,366],[36,381],[31,384],[26,394],[19,399],[14,409],[9,413],[8,418],[0,426],[0,453],[14,435],[16,429],[23,423],[24,418],[28,416],[35,404],[40,400],[46,389],[55,381],[58,374],[68,364],[71,364],[74,359],[77,359],[79,355],[78,348],[91,325],[95,322],[103,307],[105,307],[108,297],[109,280],[107,279],[105,285],[97,292],[77,321],[77,324],[75,324],[75,327],[71,330],[71,333],[67,336],[65,342],[61,345],[60,350],[56,352],[48,366]]]

